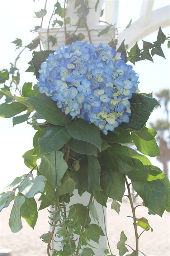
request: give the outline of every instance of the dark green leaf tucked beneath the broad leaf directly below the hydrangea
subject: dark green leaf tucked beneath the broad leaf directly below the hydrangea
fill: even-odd
[[[97,147],[89,142],[71,138],[67,145],[77,153],[97,156]]]

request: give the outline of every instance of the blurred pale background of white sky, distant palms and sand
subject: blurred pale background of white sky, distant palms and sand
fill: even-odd
[[[114,1],[114,0],[113,0]],[[112,6],[112,0],[107,1],[107,5]],[[43,28],[48,27],[49,17],[53,10],[53,4],[56,0],[47,1],[47,15],[44,17]],[[110,2],[110,3],[109,3]],[[127,26],[132,19],[132,25],[143,15],[144,2],[150,2],[150,12],[159,10],[165,6],[168,8],[169,0],[115,0],[116,9],[110,8],[110,13],[105,13],[102,20],[117,14],[116,27],[120,28],[119,33],[123,31],[124,26]],[[152,3],[151,3],[152,2]],[[28,45],[37,35],[36,33],[30,33],[30,30],[34,29],[34,26],[39,26],[39,19],[35,18],[34,12],[44,8],[44,0],[6,0],[0,3],[0,24],[1,24],[1,40],[0,40],[0,70],[10,67],[10,62],[14,62],[19,50],[15,52],[14,41],[16,38],[20,38],[24,45]],[[107,12],[108,12],[107,8]],[[161,14],[162,17],[164,13]],[[169,14],[170,15],[170,14]],[[159,18],[159,17],[158,17]],[[113,17],[113,21],[115,17]],[[101,23],[100,23],[101,24]],[[169,23],[170,26],[170,23]],[[163,26],[162,31],[166,36],[170,34],[170,27]],[[145,25],[147,30],[147,24]],[[130,31],[131,27],[129,28]],[[159,26],[157,27],[157,31]],[[143,37],[145,41],[155,41],[157,37],[157,31],[147,32]],[[128,29],[127,29],[128,32]],[[130,37],[136,38],[135,33],[131,30]],[[142,40],[138,41],[138,45],[142,47]],[[38,50],[38,48],[36,49]],[[161,157],[150,158],[153,165],[160,167],[161,170],[168,173],[170,168],[169,162],[169,84],[170,84],[170,55],[167,49],[167,41],[162,46],[165,57],[161,58],[158,55],[154,55],[154,64],[150,61],[136,62],[133,69],[140,75],[139,89],[141,92],[151,93],[160,101],[161,108],[158,107],[150,116],[147,123],[147,127],[153,127],[157,130],[157,143],[160,145]],[[24,82],[36,82],[32,73],[24,73],[28,68],[28,62],[32,58],[32,53],[29,49],[25,50],[22,57],[18,60],[18,68],[20,69],[20,85]],[[130,63],[131,64],[131,63]],[[3,103],[3,99],[1,99]],[[34,136],[34,129],[27,125],[27,123],[21,123],[14,126],[11,118],[0,118],[0,167],[1,167],[1,179],[0,190],[6,185],[11,183],[16,176],[21,176],[28,172],[27,167],[24,165],[22,155],[31,149],[32,138]],[[136,199],[138,203],[139,199]],[[10,206],[12,207],[12,206]],[[39,218],[37,225],[32,231],[28,224],[23,220],[23,229],[13,234],[8,226],[8,219],[10,216],[10,207],[5,208],[0,213],[0,248],[11,248],[13,250],[13,256],[44,256],[46,255],[46,244],[40,241],[39,236],[48,231],[47,210],[39,212]],[[139,209],[140,208],[140,209]],[[147,211],[143,209],[145,207],[138,207],[137,213],[142,216],[146,216]],[[117,253],[116,243],[119,241],[120,233],[123,230],[128,237],[129,243],[133,245],[134,232],[132,221],[126,216],[131,214],[131,210],[128,206],[128,202],[124,199],[121,205],[120,216],[114,211],[110,210],[110,202],[108,202],[108,235],[110,239],[113,252]],[[141,237],[141,250],[147,256],[169,256],[169,217],[167,212],[164,213],[162,219],[159,216],[148,215],[150,225],[154,228],[154,232],[150,231]],[[121,224],[120,224],[121,223]],[[159,241],[158,241],[159,239]],[[118,254],[117,254],[118,255]],[[141,254],[142,255],[142,254]]]

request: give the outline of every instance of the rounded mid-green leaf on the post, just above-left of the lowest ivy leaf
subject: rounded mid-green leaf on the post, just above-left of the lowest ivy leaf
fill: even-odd
[[[84,224],[84,220],[86,218],[87,208],[81,203],[76,203],[70,206],[69,216],[68,218],[73,219],[75,221],[75,226],[82,226]],[[88,218],[88,222],[90,218]]]

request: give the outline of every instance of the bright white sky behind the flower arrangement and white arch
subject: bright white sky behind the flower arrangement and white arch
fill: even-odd
[[[56,1],[50,0],[47,2],[47,12],[52,12],[52,5]],[[127,8],[134,4],[135,12],[127,12]],[[168,5],[168,0],[156,0],[154,9],[161,6]],[[120,0],[119,1],[119,13],[118,13],[118,27],[126,26],[129,20],[132,18],[134,22],[140,13],[141,1],[135,0]],[[30,33],[29,31],[40,24],[40,20],[34,18],[34,12],[37,12],[44,6],[44,0],[6,0],[1,1],[0,4],[0,24],[1,24],[1,40],[0,40],[0,70],[3,68],[9,68],[9,63],[14,62],[18,51],[15,52],[14,44],[11,41],[15,38],[21,38],[23,44],[27,45],[37,35]],[[49,15],[44,19],[43,27],[46,28],[48,24]],[[158,28],[159,29],[159,28]],[[162,31],[165,35],[169,35],[169,27],[163,28]],[[155,41],[157,32],[154,32],[144,38],[145,41]],[[139,45],[141,42],[139,42]],[[170,76],[170,55],[167,49],[167,42],[162,46],[166,59],[157,55],[154,56],[154,64],[149,61],[137,62],[134,66],[134,70],[140,75],[139,89],[141,92],[154,93],[159,92],[161,89],[169,88]],[[22,58],[18,61],[18,68],[22,73],[20,84],[24,82],[35,81],[32,73],[24,73],[28,68],[28,62],[32,58],[32,54],[29,50],[23,53]],[[36,81],[35,81],[36,82]],[[2,102],[3,103],[3,102]],[[154,122],[157,118],[165,116],[165,110],[156,109],[150,117],[150,121]],[[22,123],[12,127],[12,118],[0,117],[0,161],[1,161],[1,179],[0,190],[6,185],[11,183],[16,176],[21,176],[29,172],[29,169],[24,165],[22,155],[33,148],[32,139],[35,134],[35,130],[27,123]],[[148,125],[149,127],[149,125]],[[151,159],[154,165],[162,168],[162,164],[155,158]]]

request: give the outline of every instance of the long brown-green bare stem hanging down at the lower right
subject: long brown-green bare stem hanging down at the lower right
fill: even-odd
[[[129,202],[130,202],[131,208],[132,208],[133,226],[134,226],[134,233],[135,233],[135,240],[136,240],[136,250],[135,250],[135,253],[136,253],[136,256],[138,256],[138,255],[139,255],[139,237],[138,237],[137,225],[136,225],[135,208],[134,208],[134,206],[133,206],[133,200],[132,200],[132,196],[131,196],[131,190],[130,190],[130,188],[129,188],[129,185],[130,185],[130,184],[128,184],[126,175],[124,175],[124,179],[125,179],[125,182],[126,182],[126,185],[127,185],[127,189],[128,189],[128,198],[129,198]]]

